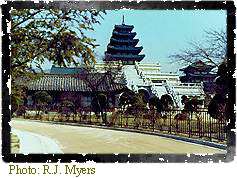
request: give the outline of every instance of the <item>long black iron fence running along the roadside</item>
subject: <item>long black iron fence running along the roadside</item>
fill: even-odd
[[[196,112],[171,110],[162,113],[157,113],[154,110],[145,110],[134,112],[133,114],[117,110],[104,112],[103,116],[101,113],[95,114],[91,111],[83,111],[70,115],[48,112],[47,114],[40,114],[34,117],[26,114],[26,118],[138,129],[198,138],[218,143],[225,143],[227,139],[226,119],[218,120],[212,118],[206,110]]]

